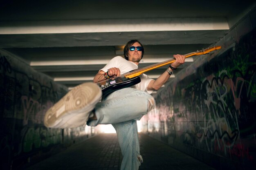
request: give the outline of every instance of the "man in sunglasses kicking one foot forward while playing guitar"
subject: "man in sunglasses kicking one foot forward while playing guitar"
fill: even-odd
[[[129,41],[124,47],[124,57],[114,57],[94,77],[94,83],[120,76],[138,68],[144,55],[143,45],[138,40]],[[143,159],[139,153],[137,120],[148,113],[155,100],[149,94],[168,81],[173,71],[184,63],[184,55],[174,55],[173,62],[156,80],[141,74],[141,82],[122,88],[102,97],[101,89],[94,83],[76,86],[45,115],[45,126],[50,128],[72,128],[112,124],[123,155],[121,170],[138,170]]]

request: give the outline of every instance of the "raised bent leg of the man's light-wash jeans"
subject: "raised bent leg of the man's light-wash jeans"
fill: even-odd
[[[123,88],[115,91],[99,102],[95,107],[97,124],[117,124],[124,121],[139,120],[155,106],[154,98],[144,91]]]

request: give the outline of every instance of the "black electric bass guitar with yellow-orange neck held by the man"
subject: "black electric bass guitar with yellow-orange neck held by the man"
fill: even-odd
[[[202,49],[200,51],[185,54],[184,56],[187,58],[193,55],[208,54],[209,52],[218,49],[221,49],[221,46],[212,46],[208,49]],[[101,88],[102,95],[107,95],[121,88],[126,88],[138,84],[141,81],[139,75],[141,75],[142,73],[145,73],[158,67],[165,66],[167,64],[171,64],[173,62],[175,62],[175,58],[171,60],[166,60],[164,62],[159,62],[150,66],[146,66],[143,68],[138,68],[127,73],[124,73],[118,77],[111,77],[110,79],[102,80],[96,84]]]

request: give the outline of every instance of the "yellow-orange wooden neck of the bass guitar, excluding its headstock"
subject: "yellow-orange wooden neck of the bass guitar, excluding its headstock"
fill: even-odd
[[[188,53],[188,54],[185,54],[184,56],[187,58],[187,57],[191,57],[195,55],[195,52],[192,52],[192,53]],[[139,68],[139,69],[136,69],[134,71],[131,71],[131,72],[128,72],[128,73],[124,73],[124,77],[126,78],[132,78],[132,77],[136,77],[136,76],[139,76],[141,75],[142,73],[145,73],[147,71],[150,71],[150,70],[153,70],[155,68],[159,68],[159,67],[162,67],[162,66],[165,66],[165,65],[168,65],[168,64],[171,64],[175,62],[175,59],[170,59],[170,60],[166,60],[164,62],[159,62],[159,63],[156,63],[156,64],[153,64],[153,65],[150,65],[150,66],[146,66],[146,67],[143,67],[143,68]]]

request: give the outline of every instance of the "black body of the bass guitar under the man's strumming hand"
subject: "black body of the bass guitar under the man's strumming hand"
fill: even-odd
[[[108,79],[104,81],[104,84],[101,82],[97,84],[101,88],[102,95],[104,96],[121,88],[126,88],[138,84],[140,81],[140,77],[138,76],[133,78],[120,77],[115,79]]]

